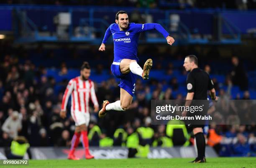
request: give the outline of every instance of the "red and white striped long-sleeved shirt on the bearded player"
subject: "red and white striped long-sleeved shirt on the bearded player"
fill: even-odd
[[[72,95],[71,95],[72,94]],[[71,111],[77,110],[89,113],[89,100],[94,105],[99,105],[95,95],[94,83],[92,80],[81,80],[80,77],[69,80],[69,84],[62,98],[61,110],[66,110],[69,96],[71,95]]]

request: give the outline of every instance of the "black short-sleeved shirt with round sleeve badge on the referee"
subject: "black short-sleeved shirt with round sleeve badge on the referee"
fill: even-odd
[[[193,69],[187,75],[187,92],[194,92],[193,100],[206,100],[207,90],[214,88],[210,76],[200,68]]]

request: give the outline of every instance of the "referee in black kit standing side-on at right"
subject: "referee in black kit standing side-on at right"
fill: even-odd
[[[187,75],[187,97],[186,100],[207,100],[207,91],[210,90],[210,96],[212,100],[217,100],[213,82],[210,76],[200,68],[198,68],[198,60],[195,55],[186,56],[183,64],[186,71],[190,71]],[[186,105],[191,105],[191,101],[186,101]],[[202,101],[201,101],[202,102]],[[193,105],[198,102],[193,101]],[[208,106],[204,105],[204,114],[207,114]],[[182,116],[192,116],[194,113],[183,112]],[[205,163],[205,137],[202,128],[205,125],[198,125],[203,123],[189,124],[189,127],[193,128],[193,133],[196,139],[197,145],[197,158],[192,163]]]

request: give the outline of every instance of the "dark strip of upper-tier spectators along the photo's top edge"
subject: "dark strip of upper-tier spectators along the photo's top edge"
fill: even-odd
[[[2,0],[3,4],[36,4],[36,5],[97,5],[97,6],[131,6],[138,8],[228,8],[228,9],[255,9],[255,0]]]

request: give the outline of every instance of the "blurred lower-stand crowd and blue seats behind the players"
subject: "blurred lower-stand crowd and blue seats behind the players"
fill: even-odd
[[[119,98],[119,81],[113,77],[109,68],[112,62],[111,48],[108,48],[106,53],[98,53],[97,46],[86,50],[64,47],[49,50],[40,45],[34,49],[12,48],[8,43],[2,43],[1,46],[1,146],[10,146],[13,138],[22,135],[28,139],[31,146],[69,147],[75,128],[70,115],[71,103],[68,103],[69,115],[66,119],[61,119],[59,112],[67,83],[79,75],[82,60],[91,64],[90,78],[95,82],[99,103],[103,100],[113,102]],[[167,56],[171,55],[168,50],[156,56],[154,52],[157,51],[152,51],[154,49],[150,47],[139,52],[144,53],[139,56],[140,63],[147,58],[145,51],[153,55],[154,66],[150,80],[145,82],[138,78],[133,103],[126,112],[110,112],[105,118],[99,119],[91,108],[88,135],[91,146],[129,145],[128,139],[134,135],[137,138],[133,137],[135,142],[132,141],[131,144],[163,147],[193,144],[191,130],[187,129],[184,123],[181,123],[181,129],[175,132],[172,131],[172,125],[151,125],[150,117],[151,100],[185,98],[187,72],[182,65],[184,56],[190,53],[199,57],[200,68],[210,74],[220,96],[221,103],[213,105],[209,110],[209,113],[216,112],[220,122],[206,125],[207,144],[222,156],[255,154],[255,115],[247,116],[246,120],[250,125],[225,125],[222,114],[218,113],[218,108],[236,111],[236,107],[226,102],[229,99],[249,100],[256,97],[253,87],[248,84],[248,72],[254,72],[253,66],[250,67],[250,63],[242,62],[234,56],[223,60],[222,65],[225,65],[226,70],[221,73],[221,67],[216,67],[218,57],[209,60],[196,53],[196,50],[181,48],[183,50],[176,48],[177,53],[172,56]],[[216,55],[216,52],[213,54]],[[94,55],[94,58],[87,60],[90,55]],[[70,63],[67,59],[75,61]],[[254,106],[252,108],[255,109]],[[232,122],[236,118],[230,120]]]

